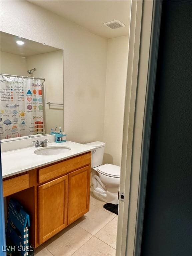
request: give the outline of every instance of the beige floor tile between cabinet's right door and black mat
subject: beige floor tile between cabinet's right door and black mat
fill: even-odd
[[[92,235],[95,235],[113,218],[113,215],[99,209],[94,205],[90,205],[90,211],[77,220],[75,224],[78,224],[81,228],[85,229]]]

